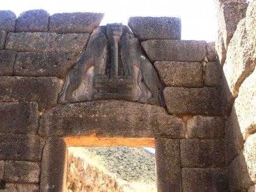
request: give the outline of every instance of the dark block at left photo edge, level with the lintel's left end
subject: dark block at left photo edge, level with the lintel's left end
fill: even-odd
[[[35,102],[0,103],[0,132],[37,134],[38,105]]]

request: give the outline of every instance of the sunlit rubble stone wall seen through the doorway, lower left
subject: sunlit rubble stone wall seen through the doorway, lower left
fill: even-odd
[[[99,168],[77,152],[69,152],[67,171],[67,192],[123,192],[131,188],[128,183],[122,183],[113,173]]]

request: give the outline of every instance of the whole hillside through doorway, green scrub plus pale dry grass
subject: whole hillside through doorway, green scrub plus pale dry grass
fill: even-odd
[[[156,192],[154,154],[143,148],[69,147],[69,152],[115,174],[125,192]]]

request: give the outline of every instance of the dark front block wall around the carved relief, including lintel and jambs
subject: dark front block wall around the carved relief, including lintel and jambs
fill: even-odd
[[[131,100],[58,103],[67,73],[102,17],[34,10],[16,19],[0,11],[4,191],[64,191],[66,141],[91,135],[155,139],[159,191],[226,191],[222,68],[214,42],[180,40],[180,19],[136,17],[128,24],[163,84],[165,107]]]

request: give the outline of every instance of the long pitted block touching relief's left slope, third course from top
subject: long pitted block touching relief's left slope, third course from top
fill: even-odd
[[[17,53],[13,70],[18,76],[54,76],[63,79],[74,61],[72,53]]]

